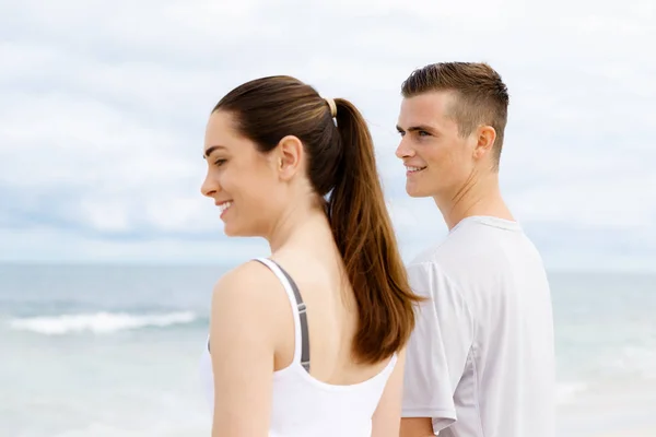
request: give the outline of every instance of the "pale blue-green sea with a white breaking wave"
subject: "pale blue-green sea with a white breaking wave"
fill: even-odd
[[[0,264],[0,436],[209,436],[199,379],[230,267]],[[558,436],[656,426],[656,275],[551,272]]]

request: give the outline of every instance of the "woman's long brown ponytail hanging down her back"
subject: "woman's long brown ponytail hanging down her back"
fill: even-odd
[[[335,103],[342,156],[329,199],[330,226],[358,302],[355,355],[376,363],[405,346],[421,298],[408,284],[366,121],[349,101]]]

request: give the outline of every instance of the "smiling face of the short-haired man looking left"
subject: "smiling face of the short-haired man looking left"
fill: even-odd
[[[453,199],[473,172],[476,132],[461,137],[449,117],[457,98],[436,91],[405,98],[397,129],[397,157],[406,165],[406,191],[414,198]]]

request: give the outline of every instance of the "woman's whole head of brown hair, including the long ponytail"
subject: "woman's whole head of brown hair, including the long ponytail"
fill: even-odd
[[[269,76],[231,91],[214,110],[230,113],[236,129],[262,153],[285,135],[303,143],[314,190],[321,198],[329,194],[326,212],[358,303],[354,355],[376,363],[406,344],[420,298],[410,290],[397,248],[367,125],[350,102],[336,98],[335,104],[333,119],[312,86]]]

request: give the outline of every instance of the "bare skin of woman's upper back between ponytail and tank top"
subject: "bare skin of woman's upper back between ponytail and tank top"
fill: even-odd
[[[316,216],[295,229],[290,244],[273,255],[297,285],[306,306],[309,374],[319,381],[348,386],[372,378],[389,359],[360,363],[353,342],[359,329],[358,302],[325,217]],[[263,274],[270,274],[263,272]],[[280,285],[282,291],[282,285]],[[282,295],[282,293],[281,293]],[[284,306],[284,302],[281,303]],[[286,367],[294,351],[291,309],[281,314],[281,349],[276,368]]]

